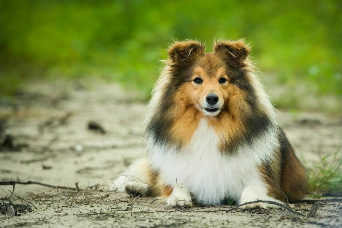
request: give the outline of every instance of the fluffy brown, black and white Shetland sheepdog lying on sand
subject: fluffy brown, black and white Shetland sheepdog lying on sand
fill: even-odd
[[[174,42],[144,121],[145,158],[112,189],[168,206],[294,202],[306,174],[282,131],[244,40]],[[241,208],[273,207],[257,202]]]

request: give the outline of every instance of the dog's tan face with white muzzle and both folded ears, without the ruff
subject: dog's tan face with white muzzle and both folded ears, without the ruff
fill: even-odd
[[[204,53],[196,41],[176,42],[169,49],[173,79],[178,82],[179,102],[193,106],[205,116],[216,116],[235,90],[232,83],[249,49],[242,41],[218,42],[213,53]]]

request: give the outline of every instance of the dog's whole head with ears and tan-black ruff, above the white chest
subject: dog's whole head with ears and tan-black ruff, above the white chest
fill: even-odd
[[[205,53],[205,45],[194,40],[169,47],[148,105],[148,145],[181,148],[202,118],[222,136],[222,152],[277,131],[272,104],[248,59],[249,46],[242,40],[219,40],[213,50]]]

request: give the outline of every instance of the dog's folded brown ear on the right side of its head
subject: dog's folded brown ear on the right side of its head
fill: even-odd
[[[250,48],[243,40],[228,41],[218,40],[214,43],[214,52],[223,54],[231,61],[245,61],[250,52]]]

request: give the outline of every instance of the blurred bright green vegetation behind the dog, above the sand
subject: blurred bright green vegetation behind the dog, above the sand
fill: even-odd
[[[322,109],[328,100],[340,111],[340,0],[1,0],[1,95],[92,78],[145,99],[172,40],[196,38],[212,51],[215,37],[251,42],[276,106]]]

